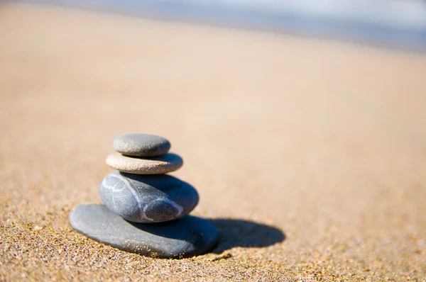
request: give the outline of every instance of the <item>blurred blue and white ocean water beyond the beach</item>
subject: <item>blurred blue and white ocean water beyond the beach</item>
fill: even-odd
[[[23,0],[426,50],[425,0]]]

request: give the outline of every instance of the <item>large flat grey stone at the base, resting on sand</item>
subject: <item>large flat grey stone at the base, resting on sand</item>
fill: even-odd
[[[219,235],[212,222],[191,215],[157,224],[134,223],[97,204],[75,207],[70,213],[70,223],[72,228],[97,242],[164,259],[209,252]]]

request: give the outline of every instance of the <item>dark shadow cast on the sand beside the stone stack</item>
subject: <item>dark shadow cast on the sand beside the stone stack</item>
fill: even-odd
[[[216,254],[233,247],[268,247],[286,239],[284,232],[271,225],[231,218],[209,220],[219,230],[219,243],[212,250]]]

